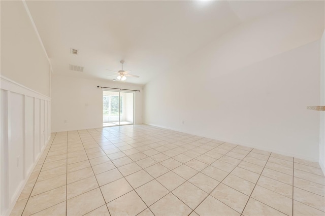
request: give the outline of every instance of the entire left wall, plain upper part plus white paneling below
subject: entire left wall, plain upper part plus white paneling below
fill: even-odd
[[[10,213],[48,143],[49,95],[49,60],[23,2],[1,2],[1,215]]]

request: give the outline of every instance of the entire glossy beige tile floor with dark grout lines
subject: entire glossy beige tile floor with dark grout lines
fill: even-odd
[[[148,125],[53,133],[12,215],[324,215],[319,165]]]

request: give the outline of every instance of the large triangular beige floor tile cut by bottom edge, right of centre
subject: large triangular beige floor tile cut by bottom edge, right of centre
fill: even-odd
[[[194,211],[199,215],[240,215],[210,195]]]

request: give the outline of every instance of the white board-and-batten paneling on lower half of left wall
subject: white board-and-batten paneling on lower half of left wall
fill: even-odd
[[[1,77],[1,215],[14,206],[51,136],[49,97]]]

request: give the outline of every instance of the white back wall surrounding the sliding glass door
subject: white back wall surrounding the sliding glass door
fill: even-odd
[[[57,74],[51,80],[52,132],[103,127],[103,89],[97,86],[140,90],[135,93],[135,123],[142,123],[140,85]]]

